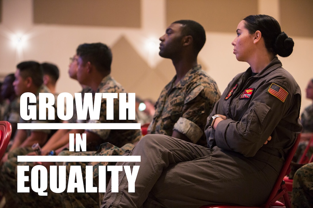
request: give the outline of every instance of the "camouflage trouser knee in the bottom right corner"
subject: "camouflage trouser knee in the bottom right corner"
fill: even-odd
[[[313,207],[313,163],[300,167],[294,175],[291,206]]]

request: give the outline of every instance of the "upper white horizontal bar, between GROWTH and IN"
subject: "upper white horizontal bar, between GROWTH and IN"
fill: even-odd
[[[18,129],[140,129],[140,123],[18,123]]]

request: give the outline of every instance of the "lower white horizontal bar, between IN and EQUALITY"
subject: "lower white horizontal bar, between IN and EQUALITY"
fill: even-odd
[[[68,156],[49,156],[49,155],[18,155],[18,162],[140,162],[140,156],[124,155],[68,155]]]

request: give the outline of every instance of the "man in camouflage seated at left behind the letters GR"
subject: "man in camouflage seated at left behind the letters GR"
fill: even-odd
[[[20,123],[55,123],[55,120],[48,120],[48,115],[46,114],[46,120],[39,120],[38,116],[38,99],[39,93],[50,93],[49,89],[43,85],[43,74],[41,66],[38,62],[27,61],[21,62],[17,65],[17,70],[15,72],[15,81],[13,82],[14,91],[19,97],[25,92],[31,92],[36,95],[36,103],[28,103],[28,106],[35,105],[37,108],[37,118],[30,119],[28,121],[23,120],[21,117],[19,119]],[[46,112],[48,113],[48,111]],[[51,111],[49,112],[51,113]],[[56,116],[56,108],[54,106],[54,118]],[[33,151],[31,146],[34,143],[43,145],[49,138],[49,134],[52,131],[50,129],[45,130],[24,130],[18,129],[16,135],[13,139],[13,144],[10,147],[8,153],[6,153],[2,158],[1,166],[1,179],[0,179],[0,191],[3,191],[6,197],[7,204],[14,203],[16,199],[11,199],[9,191],[11,191],[11,186],[7,181],[7,177],[12,176],[15,173],[17,164],[17,156],[27,154]],[[16,181],[15,181],[16,182]],[[16,183],[15,183],[16,186]],[[16,190],[15,190],[16,193]]]

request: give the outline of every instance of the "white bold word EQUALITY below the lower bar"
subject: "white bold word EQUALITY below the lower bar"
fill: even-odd
[[[29,181],[29,176],[25,176],[25,172],[29,171],[29,166],[18,167],[18,193],[29,193],[30,187],[25,187],[25,182]],[[57,167],[59,167],[59,177],[57,176]],[[74,193],[77,189],[78,193],[104,193],[106,191],[106,171],[111,171],[111,191],[119,190],[119,171],[126,173],[128,181],[128,192],[135,192],[135,181],[137,178],[139,166],[99,166],[99,184],[98,187],[93,186],[93,166],[86,166],[85,185],[83,181],[81,166],[70,166],[69,180],[67,183],[67,193]],[[40,172],[40,177],[39,177]],[[49,188],[54,193],[62,193],[66,189],[66,166],[50,166],[49,171],[50,183]],[[59,181],[58,181],[59,178]],[[75,180],[76,179],[76,180]],[[59,186],[58,186],[59,185]],[[85,188],[86,187],[86,188]],[[45,192],[48,188],[48,171],[45,166],[36,165],[31,170],[31,188],[39,196],[48,196]],[[99,190],[97,190],[99,189]]]

